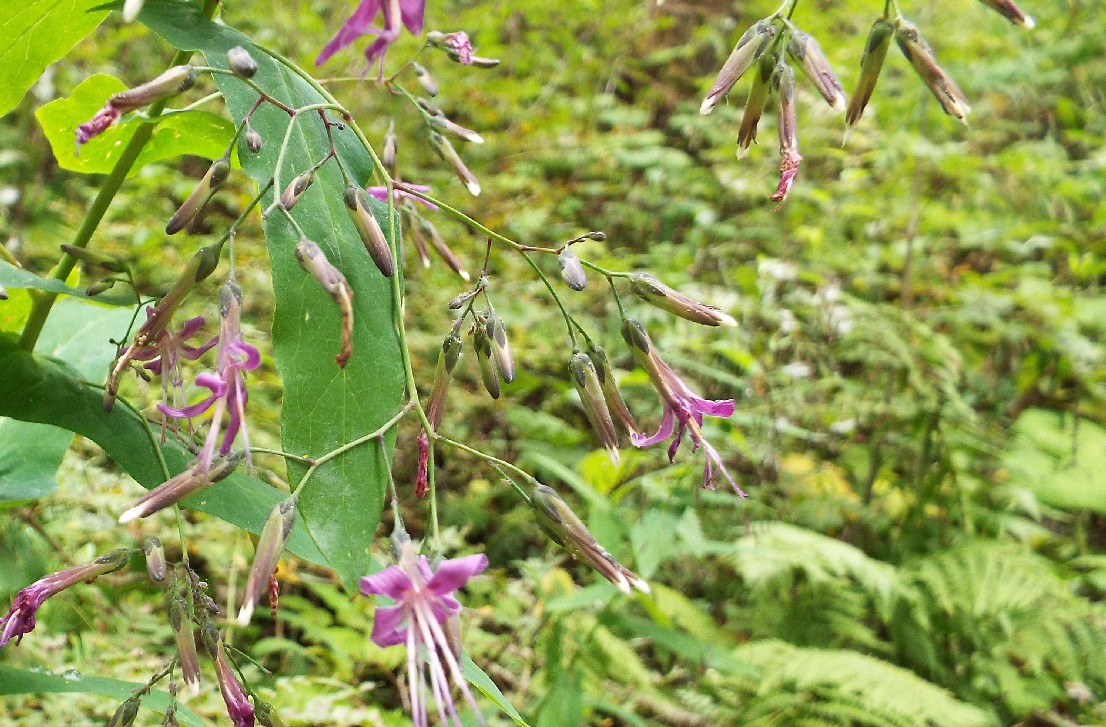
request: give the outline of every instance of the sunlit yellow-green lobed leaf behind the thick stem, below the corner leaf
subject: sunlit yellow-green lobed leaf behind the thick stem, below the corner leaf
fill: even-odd
[[[82,145],[80,153],[76,148],[76,127],[92,118],[108,96],[126,87],[118,79],[97,73],[82,81],[72,95],[51,101],[34,112],[61,168],[84,174],[108,174],[115,168],[131,137],[145,122],[136,115],[124,116],[103,134]],[[206,111],[169,115],[157,123],[154,135],[127,176],[134,176],[147,164],[182,154],[215,159],[222,156],[233,135],[233,124]]]

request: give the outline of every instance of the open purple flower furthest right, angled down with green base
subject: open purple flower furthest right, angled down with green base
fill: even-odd
[[[675,434],[672,443],[668,447],[668,459],[674,460],[676,458],[676,450],[679,449],[680,443],[684,440],[684,434],[687,433],[691,439],[692,449],[696,450],[702,447],[706,454],[706,464],[702,474],[703,488],[713,489],[717,468],[718,471],[722,472],[727,481],[730,482],[734,491],[741,497],[745,497],[745,494],[738,487],[733,477],[727,471],[726,465],[722,464],[722,458],[719,457],[718,451],[702,435],[703,415],[723,418],[732,416],[733,399],[712,401],[692,392],[684,383],[684,380],[660,359],[657,347],[637,321],[624,321],[622,332],[623,337],[626,339],[626,343],[629,344],[630,350],[634,352],[634,357],[637,359],[641,367],[649,374],[649,380],[653,382],[654,387],[656,387],[657,393],[660,394],[660,398],[665,405],[665,414],[657,433],[651,437],[644,434],[632,434],[630,442],[634,446],[648,447],[658,442],[664,442]]]

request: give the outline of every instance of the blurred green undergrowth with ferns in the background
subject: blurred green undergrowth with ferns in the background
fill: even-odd
[[[745,85],[712,115],[698,114],[739,33],[774,9],[431,0],[429,28],[463,28],[480,54],[503,59],[494,71],[428,63],[446,113],[488,139],[461,149],[486,190],[478,201],[436,162],[400,98],[371,82],[331,86],[372,139],[396,120],[405,178],[432,185],[489,227],[533,245],[605,230],[607,242],[580,253],[648,270],[740,321],[703,330],[644,304],[632,310],[706,395],[737,398],[737,415],[709,422],[707,434],[740,474],[745,501],[699,490],[698,459],[687,451],[675,465],[659,451],[626,451],[613,468],[574,401],[554,307],[520,261],[492,257],[492,297],[519,380],[492,402],[467,361],[444,430],[572,491],[601,542],[655,593],[626,600],[596,582],[546,546],[494,472],[446,453],[447,540],[487,551],[493,564],[467,594],[467,647],[542,727],[1102,724],[1102,7],[1026,0],[1039,27],[1025,32],[969,0],[904,2],[972,100],[972,126],[946,117],[894,50],[845,146],[841,117],[800,83],[804,163],[778,210],[768,200],[778,165],[771,115],[762,144],[739,162]],[[880,9],[807,1],[794,15],[846,91]],[[230,2],[223,13],[307,66],[347,10]],[[392,63],[415,46],[405,38]],[[34,110],[96,72],[146,79],[159,67],[153,59],[169,55],[113,15],[4,117],[0,187],[18,195],[2,197],[0,239],[28,268],[52,264],[95,186],[58,168]],[[358,60],[349,51],[323,75],[356,75]],[[166,245],[160,228],[205,167],[144,167],[95,249],[134,260],[149,290],[166,287],[192,248]],[[241,177],[237,185],[219,198],[210,230],[251,198]],[[478,269],[483,240],[435,219]],[[272,301],[260,225],[238,240],[254,261],[240,273],[249,333],[264,340]],[[445,303],[460,287],[440,264],[424,270],[410,259],[408,270],[416,372],[429,385],[450,320]],[[598,282],[564,294],[594,321],[632,408],[653,426],[655,394],[622,350]],[[194,305],[206,312],[202,295]],[[257,438],[272,445],[281,392],[271,359],[263,368],[251,381],[251,417]],[[413,479],[413,430],[400,432],[396,463],[403,488]],[[91,444],[76,443],[59,484],[0,513],[0,594],[169,526],[114,525],[119,502],[139,488]],[[409,488],[405,500],[408,528],[421,531],[422,503]],[[202,543],[194,558],[220,600],[233,603],[248,538],[198,515],[186,531]],[[404,724],[392,676],[401,655],[368,642],[372,604],[293,559],[281,578],[276,619],[255,621],[238,645],[272,672],[249,667],[285,720]],[[153,589],[119,577],[51,602],[0,664],[140,682],[170,643]],[[114,709],[109,699],[69,695],[3,705],[0,724],[19,725]],[[211,689],[189,706],[211,718],[221,712]]]

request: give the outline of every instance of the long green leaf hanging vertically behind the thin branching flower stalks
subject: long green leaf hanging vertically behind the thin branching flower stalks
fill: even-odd
[[[324,101],[303,79],[248,38],[208,21],[198,6],[149,0],[139,18],[178,49],[202,51],[211,65],[227,66],[230,48],[247,48],[259,66],[253,80],[291,106]],[[219,76],[217,82],[231,114],[240,120],[253,106],[257,93],[233,77]],[[258,155],[244,155],[243,168],[264,184],[273,175],[289,116],[265,105],[251,123],[264,139],[264,147]],[[306,114],[295,124],[283,184],[328,150],[317,114]],[[335,129],[334,135],[345,168],[358,183],[366,183],[372,173],[367,152],[349,129]],[[279,214],[270,215],[264,225],[276,293],[273,346],[284,382],[282,438],[284,449],[294,453],[321,455],[373,432],[399,409],[403,396],[401,354],[393,323],[390,288],[348,219],[342,201],[343,187],[337,167],[326,164],[296,204],[294,215],[355,291],[354,351],[344,370],[334,363],[341,330],[338,311],[300,269],[293,253],[296,233]],[[265,202],[279,191],[270,193]],[[387,231],[386,209],[382,205],[375,211]],[[387,481],[385,466],[380,448],[372,443],[353,449],[321,467],[300,500],[303,522],[351,590],[371,568],[369,548]],[[291,468],[293,480],[302,472],[301,466]]]

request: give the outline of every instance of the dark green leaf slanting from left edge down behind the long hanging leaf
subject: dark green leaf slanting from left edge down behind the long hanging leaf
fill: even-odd
[[[109,334],[102,334],[106,340]],[[153,488],[165,480],[157,460],[157,437],[150,436],[143,419],[123,403],[104,412],[103,392],[84,383],[79,374],[60,362],[34,356],[20,349],[14,339],[0,335],[0,416],[62,427],[92,439],[140,485]],[[180,445],[161,447],[173,474],[182,471],[191,455]],[[211,489],[185,500],[187,507],[260,533],[272,506],[283,492],[255,477],[231,475]],[[327,560],[296,526],[288,543],[293,553],[321,565]]]

